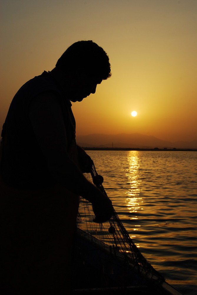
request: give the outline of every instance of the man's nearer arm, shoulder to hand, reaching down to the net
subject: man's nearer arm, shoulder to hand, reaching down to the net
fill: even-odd
[[[64,118],[55,93],[45,92],[34,98],[29,106],[29,118],[54,179],[66,189],[90,201],[98,221],[109,219],[112,209],[110,199],[87,181],[69,158]]]

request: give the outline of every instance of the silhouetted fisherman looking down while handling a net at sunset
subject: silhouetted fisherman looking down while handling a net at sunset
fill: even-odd
[[[105,51],[78,41],[14,96],[1,135],[0,294],[70,294],[79,196],[95,222],[110,219],[110,199],[83,175],[93,162],[76,145],[71,110],[110,76]]]

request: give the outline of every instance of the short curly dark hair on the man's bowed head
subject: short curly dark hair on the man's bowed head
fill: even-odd
[[[58,59],[56,67],[71,73],[77,68],[83,68],[87,75],[102,80],[111,76],[107,53],[92,40],[73,43]]]

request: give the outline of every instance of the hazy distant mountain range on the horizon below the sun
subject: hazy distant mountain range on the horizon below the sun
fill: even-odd
[[[186,148],[197,149],[197,140],[165,141],[154,136],[133,134],[89,134],[77,135],[77,144],[87,148]]]

